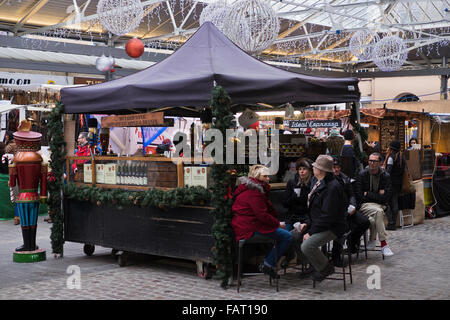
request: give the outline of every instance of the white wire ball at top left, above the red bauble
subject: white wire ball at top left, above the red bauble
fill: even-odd
[[[144,8],[139,0],[100,0],[97,14],[106,30],[123,36],[139,26]]]

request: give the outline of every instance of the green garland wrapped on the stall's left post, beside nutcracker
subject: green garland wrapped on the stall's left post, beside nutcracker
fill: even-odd
[[[62,116],[64,114],[64,105],[57,101],[56,107],[52,110],[48,122],[48,134],[50,137],[50,175],[48,183],[48,207],[51,213],[53,225],[50,239],[54,254],[64,254],[64,235],[63,221],[61,215],[61,190],[64,185],[64,161],[66,157],[66,143],[64,142],[64,127]]]

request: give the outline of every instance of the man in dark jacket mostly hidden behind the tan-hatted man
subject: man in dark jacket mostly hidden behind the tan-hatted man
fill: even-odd
[[[353,191],[352,180],[341,172],[341,164],[338,158],[334,158],[334,177],[344,188],[345,195],[345,205],[347,206],[346,212],[346,228],[351,230],[349,250],[351,253],[356,253],[359,247],[359,240],[361,236],[370,227],[369,219],[362,214],[360,211],[356,210],[356,197]],[[354,181],[354,180],[353,180]],[[342,266],[343,261],[341,259],[342,246],[333,242],[332,258],[334,265],[337,267]]]

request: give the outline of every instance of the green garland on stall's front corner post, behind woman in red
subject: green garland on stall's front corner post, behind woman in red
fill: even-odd
[[[226,145],[226,129],[235,127],[234,116],[231,112],[231,99],[221,87],[214,87],[211,97],[213,115],[212,128],[219,129],[224,137]],[[224,152],[224,154],[226,154]],[[233,200],[228,195],[228,187],[232,181],[229,174],[233,166],[227,164],[215,164],[211,175],[214,181],[212,186],[212,215],[214,218],[212,235],[214,238],[214,261],[217,266],[215,278],[222,280],[221,287],[226,288],[228,279],[233,274],[233,228],[231,226]]]

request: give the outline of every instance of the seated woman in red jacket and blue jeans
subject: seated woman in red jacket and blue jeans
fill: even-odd
[[[285,230],[286,225],[278,220],[278,214],[268,198],[269,191],[269,169],[263,165],[252,166],[248,177],[240,179],[240,185],[234,192],[232,225],[236,241],[250,239],[256,234],[277,240],[277,256],[272,248],[260,265],[261,272],[277,277],[276,264],[288,250],[292,236]]]

